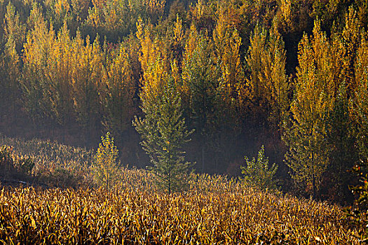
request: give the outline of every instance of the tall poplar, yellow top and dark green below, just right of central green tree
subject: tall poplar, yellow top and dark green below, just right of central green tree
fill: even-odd
[[[216,127],[216,99],[218,68],[215,66],[213,43],[207,35],[196,36],[196,30],[191,34],[196,42],[189,39],[184,52],[182,78],[189,88],[189,117],[196,129],[202,150],[202,172],[205,163],[205,148],[210,141],[214,127]],[[189,55],[191,53],[191,55]]]

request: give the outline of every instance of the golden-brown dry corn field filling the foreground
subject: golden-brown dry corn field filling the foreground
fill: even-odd
[[[0,244],[358,244],[341,208],[196,176],[184,193],[126,172],[105,190],[2,188]],[[134,183],[133,183],[134,182]]]

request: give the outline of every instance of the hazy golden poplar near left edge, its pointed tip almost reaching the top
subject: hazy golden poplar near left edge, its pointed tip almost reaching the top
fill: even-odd
[[[53,84],[46,77],[46,71],[50,66],[55,31],[52,25],[48,28],[36,3],[29,15],[28,25],[31,31],[24,45],[21,86],[25,110],[32,116],[34,125],[38,125],[38,119],[51,117],[49,92]]]

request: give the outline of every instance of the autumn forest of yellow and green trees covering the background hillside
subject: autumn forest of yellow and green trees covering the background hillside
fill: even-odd
[[[1,0],[0,132],[87,148],[110,132],[121,164],[144,168],[134,124],[170,92],[196,172],[239,176],[264,145],[280,190],[351,203],[368,158],[367,11],[365,0]]]

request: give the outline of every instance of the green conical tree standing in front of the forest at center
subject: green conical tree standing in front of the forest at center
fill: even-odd
[[[133,125],[142,137],[142,147],[149,155],[149,167],[158,179],[158,186],[168,193],[182,190],[191,166],[184,161],[184,144],[192,131],[186,130],[182,118],[179,92],[170,79],[154,102],[141,95],[145,118],[135,118]]]

